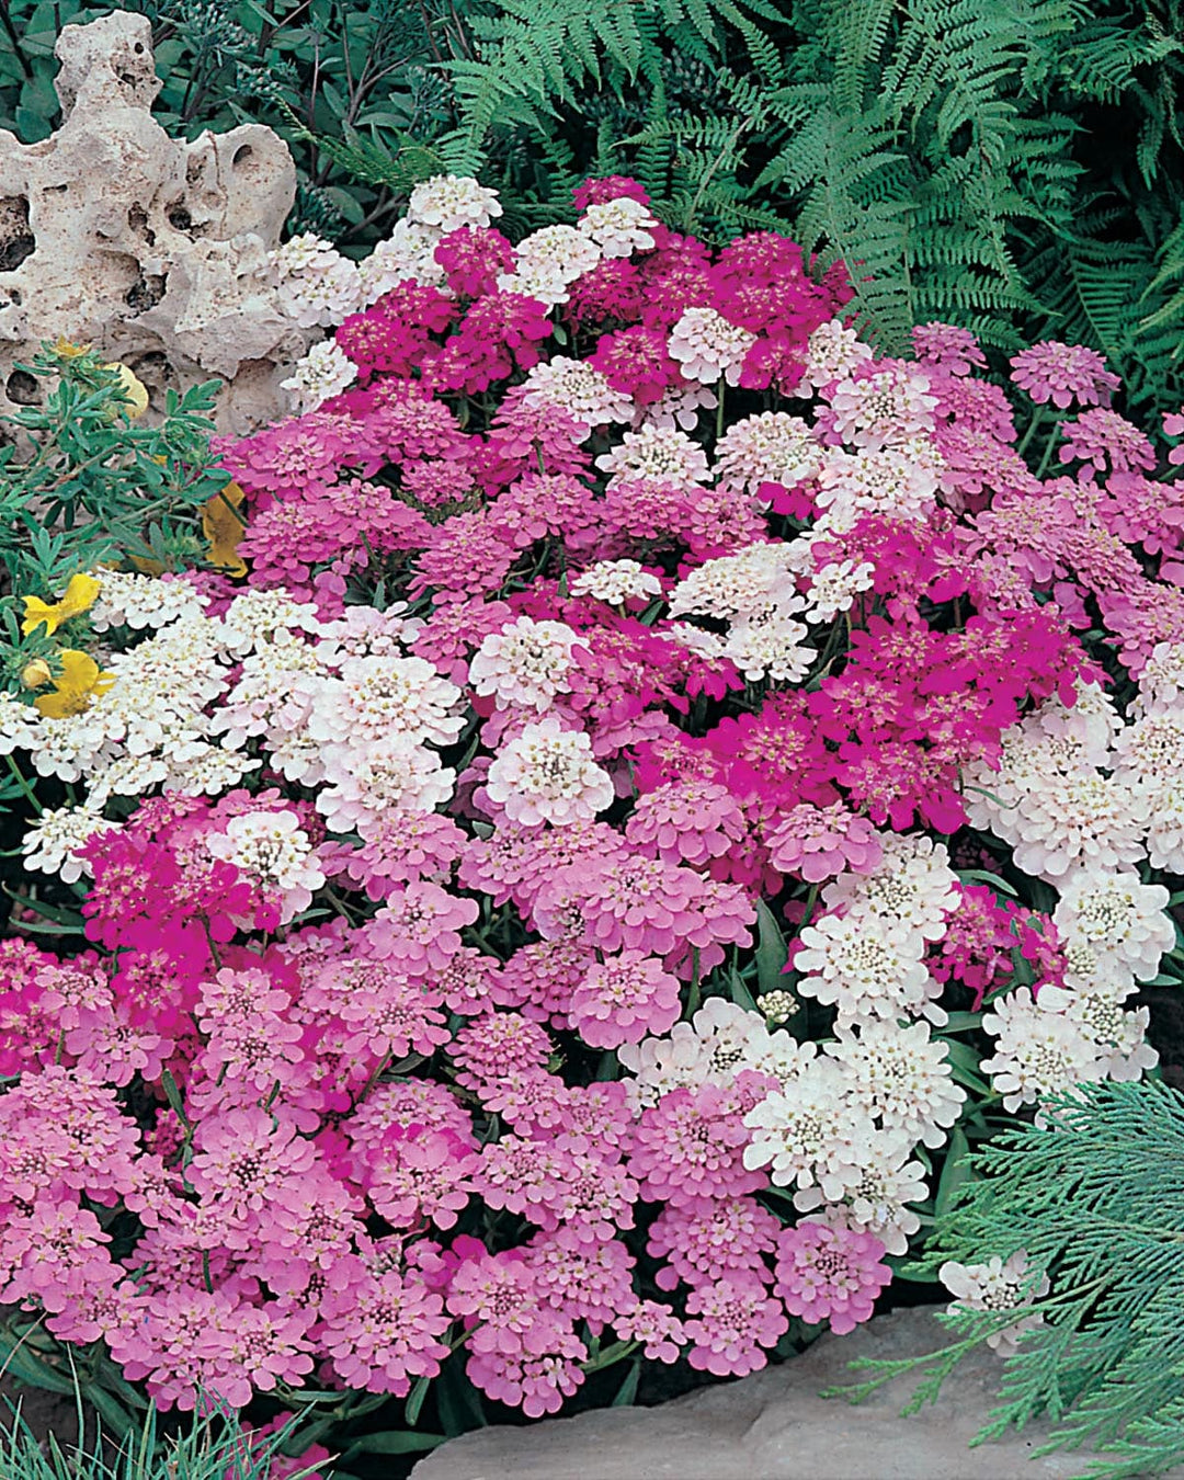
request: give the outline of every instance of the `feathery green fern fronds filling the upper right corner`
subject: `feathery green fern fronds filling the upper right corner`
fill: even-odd
[[[1134,403],[1184,395],[1178,0],[471,0],[448,144],[546,203],[635,173],[716,240],[771,226],[915,323],[1106,351]],[[534,148],[518,169],[521,139]],[[543,144],[543,141],[546,141]],[[530,154],[531,151],[525,151]]]

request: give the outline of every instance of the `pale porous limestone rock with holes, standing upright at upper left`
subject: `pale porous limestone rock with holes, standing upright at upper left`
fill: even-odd
[[[314,337],[266,278],[296,194],[287,145],[260,124],[170,139],[142,15],[67,25],[55,55],[61,127],[0,130],[0,411],[36,403],[13,367],[64,334],[129,366],[151,411],[222,377],[219,431],[286,414],[280,380]]]

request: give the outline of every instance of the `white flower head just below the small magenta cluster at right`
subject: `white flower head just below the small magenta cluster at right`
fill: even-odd
[[[1067,1017],[1042,1012],[1027,987],[996,998],[983,1029],[998,1042],[981,1070],[990,1074],[1006,1110],[1039,1104],[1048,1095],[1103,1077],[1094,1040]],[[1037,1114],[1036,1125],[1042,1123]]]

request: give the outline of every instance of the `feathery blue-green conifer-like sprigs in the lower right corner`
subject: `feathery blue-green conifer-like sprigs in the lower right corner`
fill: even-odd
[[[1051,1277],[1033,1304],[1043,1323],[1008,1357],[978,1440],[1046,1410],[1057,1427],[1036,1453],[1113,1453],[1091,1480],[1154,1474],[1184,1461],[1184,1097],[1153,1082],[1086,1085],[1054,1101],[1049,1119],[1003,1131],[971,1157],[978,1180],[940,1215],[924,1268],[1024,1249],[1033,1283],[1040,1270]],[[965,1351],[1015,1317],[943,1319],[961,1339],[915,1362],[855,1363],[875,1375],[854,1393],[928,1368],[910,1403],[919,1407]]]

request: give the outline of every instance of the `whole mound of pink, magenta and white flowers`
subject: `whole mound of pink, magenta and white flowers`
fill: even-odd
[[[447,178],[360,268],[280,249],[334,333],[218,444],[243,574],[78,571],[102,682],[0,696],[38,1360],[337,1394],[346,1453],[743,1375],[872,1314],[971,1143],[1154,1064],[1171,459],[1088,351],[885,358],[790,241],[576,209],[512,244]]]

